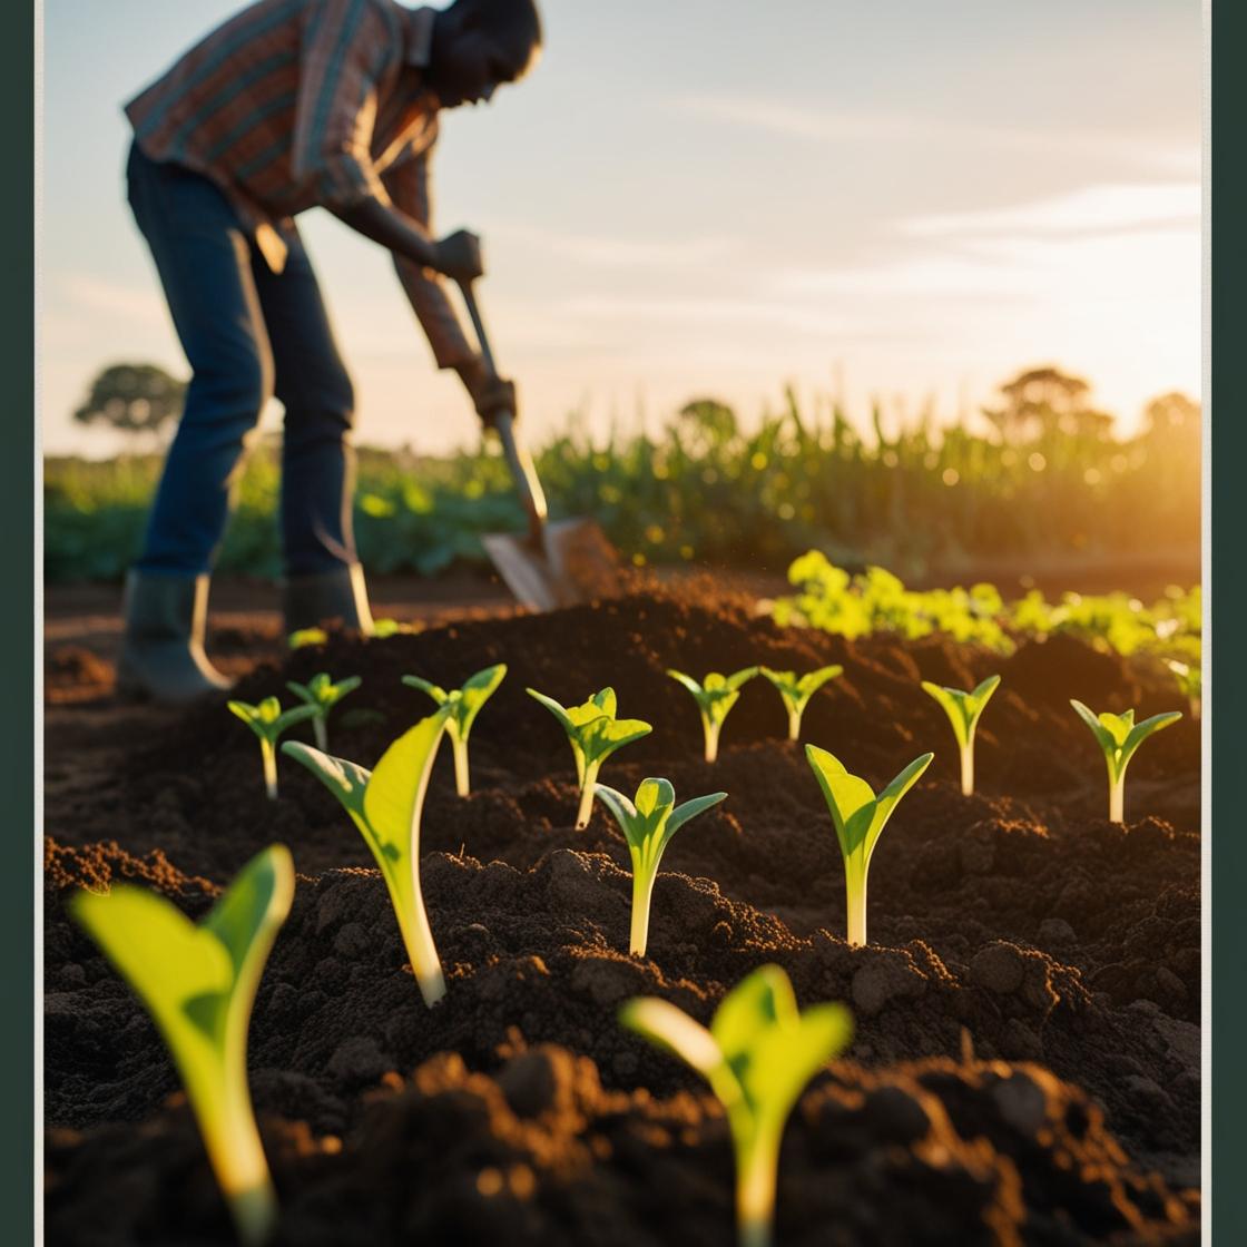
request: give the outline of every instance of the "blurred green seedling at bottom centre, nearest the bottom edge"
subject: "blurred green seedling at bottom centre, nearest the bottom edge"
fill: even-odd
[[[848,1047],[853,1015],[842,1004],[801,1013],[788,975],[763,965],[723,998],[710,1030],[653,996],[628,1000],[620,1021],[710,1082],[736,1153],[737,1241],[771,1247],[784,1124],[806,1084]]]

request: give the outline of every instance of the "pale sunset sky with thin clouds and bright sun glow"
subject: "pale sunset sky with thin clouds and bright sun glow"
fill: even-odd
[[[125,202],[121,105],[236,0],[44,0],[41,435],[116,362],[188,368]],[[544,0],[546,47],[443,115],[434,224],[479,286],[529,438],[656,430],[792,385],[863,421],[951,418],[1055,363],[1134,426],[1201,379],[1200,0]],[[478,439],[388,254],[299,218],[358,395],[357,440]],[[279,428],[271,404],[266,426]]]

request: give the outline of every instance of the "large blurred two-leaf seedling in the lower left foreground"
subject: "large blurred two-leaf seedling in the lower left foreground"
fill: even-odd
[[[247,1087],[247,1029],[264,963],[294,895],[284,844],[248,862],[196,925],[163,897],[118,883],[80,892],[75,922],[151,1014],[247,1247],[266,1242],[277,1196]]]

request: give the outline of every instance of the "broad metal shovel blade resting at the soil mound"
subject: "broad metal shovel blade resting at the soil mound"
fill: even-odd
[[[620,589],[620,557],[594,520],[546,524],[541,549],[513,532],[481,537],[503,582],[534,611],[577,606]]]

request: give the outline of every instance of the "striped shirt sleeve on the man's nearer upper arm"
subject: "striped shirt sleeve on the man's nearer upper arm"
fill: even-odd
[[[291,172],[314,182],[328,208],[387,200],[370,145],[390,46],[373,0],[312,0],[306,7]]]

